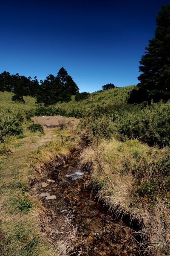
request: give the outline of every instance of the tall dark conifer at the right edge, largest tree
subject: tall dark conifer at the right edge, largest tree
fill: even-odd
[[[132,90],[129,103],[170,99],[170,5],[162,6],[156,25],[155,37],[140,61],[140,83]]]

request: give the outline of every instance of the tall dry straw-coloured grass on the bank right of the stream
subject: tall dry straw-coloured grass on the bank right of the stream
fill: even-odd
[[[150,184],[156,175],[161,177],[161,163],[165,163],[166,155],[169,155],[168,148],[150,148],[137,140],[115,139],[101,140],[81,155],[82,166],[91,170],[91,183],[98,190],[99,199],[111,212],[130,215],[141,224],[139,233],[144,236],[146,251],[155,256],[170,252],[170,209],[164,199],[168,192],[160,187],[159,191],[150,193],[152,187],[148,185],[145,201],[139,188]]]

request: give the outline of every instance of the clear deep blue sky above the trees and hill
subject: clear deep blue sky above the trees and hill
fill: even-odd
[[[0,73],[40,80],[63,66],[80,91],[136,84],[161,4],[170,0],[0,1]]]

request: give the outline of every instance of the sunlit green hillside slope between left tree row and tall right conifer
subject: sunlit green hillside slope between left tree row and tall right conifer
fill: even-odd
[[[111,90],[97,91],[91,94],[92,98],[75,101],[72,96],[70,102],[57,103],[49,107],[37,107],[36,115],[63,115],[74,117],[111,115],[115,111],[134,109],[133,105],[127,104],[130,91],[133,86],[120,87]]]

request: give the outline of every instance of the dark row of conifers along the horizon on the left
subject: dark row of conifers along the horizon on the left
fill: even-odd
[[[37,103],[52,105],[58,101],[70,101],[71,95],[78,93],[79,88],[61,67],[57,76],[50,74],[44,81],[40,80],[40,84],[36,76],[32,79],[31,76],[20,76],[18,73],[14,75],[4,71],[0,74],[0,91],[13,92],[13,101],[24,102],[23,96],[33,96],[37,98]]]

